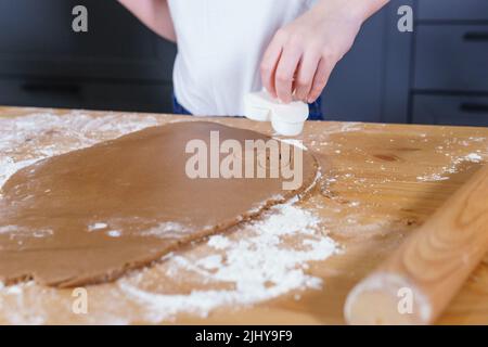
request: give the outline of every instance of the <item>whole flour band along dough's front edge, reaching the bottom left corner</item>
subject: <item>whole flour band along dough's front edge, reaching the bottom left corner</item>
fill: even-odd
[[[319,223],[316,215],[298,206],[275,206],[260,221],[242,227],[245,237],[239,236],[240,231],[215,235],[202,245],[204,253],[170,254],[156,269],[128,274],[110,291],[103,285],[88,287],[89,314],[75,319],[80,324],[158,323],[179,313],[205,318],[218,308],[235,310],[287,293],[299,299],[303,291],[323,285],[320,278],[308,273],[309,262],[342,253]],[[155,280],[154,271],[163,271],[164,278],[157,280],[156,275]],[[166,282],[180,280],[190,280],[195,288],[189,293],[178,291],[178,286],[176,292],[165,290]],[[226,283],[232,285],[219,287]],[[205,284],[213,286],[202,287]],[[5,287],[0,283],[2,300],[5,308],[0,311],[0,322],[50,324],[74,319],[69,290],[56,291],[34,282]]]

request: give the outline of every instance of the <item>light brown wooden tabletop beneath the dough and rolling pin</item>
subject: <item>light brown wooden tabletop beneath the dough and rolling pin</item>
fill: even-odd
[[[72,120],[80,116],[93,119],[111,117],[117,119],[121,127],[128,119],[131,124],[149,118],[155,124],[194,119],[172,115],[0,107],[0,117],[13,119],[10,123],[13,133],[15,127],[36,127],[31,123],[33,114],[60,115]],[[272,133],[268,124],[241,118],[209,119]],[[69,149],[74,141],[70,126],[78,134],[85,131],[84,136],[93,143],[117,137],[116,131],[104,129],[103,123],[100,131],[97,127],[80,129],[76,121],[52,129],[44,125],[39,127],[35,139],[24,139],[23,143],[8,150],[0,146],[0,163],[7,156],[15,160],[31,158],[39,143],[57,150]],[[178,313],[160,323],[342,324],[343,305],[349,290],[488,160],[488,128],[323,121],[308,123],[298,139],[321,163],[325,180],[321,189],[314,190],[300,206],[320,216],[321,229],[344,248],[341,255],[309,264],[308,273],[321,278],[323,287],[291,292],[252,306],[220,307],[207,317]],[[233,235],[245,237],[245,233],[234,232]],[[182,252],[197,254],[208,249],[204,244],[196,244]],[[164,264],[155,268],[164,269]],[[192,279],[187,282],[169,283],[166,290],[171,293],[188,291],[193,285]],[[113,322],[145,322],[137,319],[141,307],[124,305],[124,297],[117,297],[115,284],[88,290],[98,293],[94,301],[90,303],[93,307],[106,304],[106,300],[114,307],[120,306],[111,313]],[[31,319],[34,323],[97,323],[106,318],[100,312],[91,317],[69,313],[70,291],[31,285],[24,290],[22,303],[18,303],[18,296],[14,303],[14,296],[5,295],[5,291],[8,288],[0,290],[0,312],[3,312],[0,313],[0,323],[12,322],[14,313],[20,317],[18,321]],[[34,310],[33,306],[36,307]],[[26,310],[12,311],[18,308]],[[488,256],[438,323],[488,324]]]

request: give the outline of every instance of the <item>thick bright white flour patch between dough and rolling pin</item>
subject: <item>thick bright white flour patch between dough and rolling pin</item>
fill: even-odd
[[[193,272],[203,282],[234,283],[232,290],[192,291],[189,295],[153,293],[131,278],[118,281],[123,293],[143,305],[145,319],[159,322],[187,311],[206,317],[221,306],[252,305],[299,290],[319,290],[322,280],[307,274],[308,262],[325,260],[341,247],[319,232],[319,218],[293,204],[275,206],[249,226],[253,235],[209,237],[216,254],[176,255],[168,259],[169,275]],[[286,240],[294,239],[293,246]],[[143,275],[143,274],[141,274]]]

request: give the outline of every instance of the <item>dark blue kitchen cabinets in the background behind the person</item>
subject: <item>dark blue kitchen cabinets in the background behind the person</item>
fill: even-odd
[[[70,29],[77,4],[88,33]],[[397,28],[400,5],[413,33]],[[0,104],[171,112],[175,54],[115,0],[0,0]],[[488,126],[488,0],[391,0],[322,107],[333,120]]]

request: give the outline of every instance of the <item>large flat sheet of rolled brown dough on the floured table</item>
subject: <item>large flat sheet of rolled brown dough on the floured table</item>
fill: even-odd
[[[207,121],[147,128],[40,160],[13,175],[0,195],[0,281],[70,287],[115,280],[183,244],[255,218],[313,184],[318,166],[303,153],[303,183],[283,178],[192,179],[190,140],[265,141],[255,131]],[[294,151],[301,151],[294,147]]]

